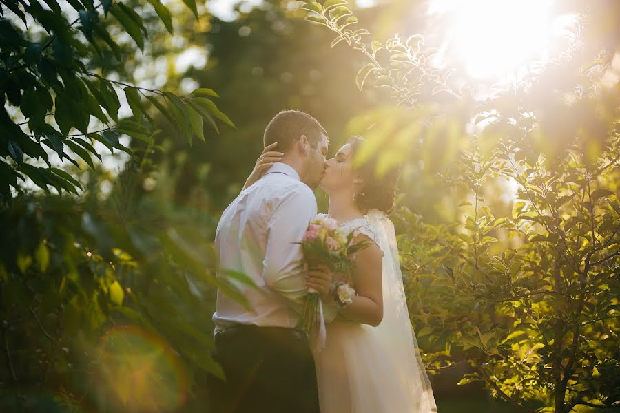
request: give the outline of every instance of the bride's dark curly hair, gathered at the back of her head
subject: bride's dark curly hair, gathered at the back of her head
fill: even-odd
[[[361,136],[352,136],[351,153],[353,157],[360,146],[365,142]],[[362,165],[355,166],[354,169],[362,178],[362,188],[355,195],[353,200],[358,208],[366,213],[369,209],[378,209],[386,214],[394,209],[394,199],[396,198],[396,184],[400,173],[400,167],[393,167],[381,176],[376,172],[378,157],[371,156]]]

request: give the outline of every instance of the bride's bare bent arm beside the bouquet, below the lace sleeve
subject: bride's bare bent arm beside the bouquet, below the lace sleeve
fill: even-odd
[[[369,241],[365,235],[358,235],[353,242]],[[374,242],[358,252],[355,257],[353,284],[358,295],[353,302],[339,312],[342,317],[361,324],[378,326],[383,319],[382,273],[383,254]]]

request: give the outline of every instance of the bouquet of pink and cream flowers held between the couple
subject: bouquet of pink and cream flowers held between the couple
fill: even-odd
[[[353,232],[346,235],[338,229],[338,222],[333,218],[320,217],[310,222],[308,231],[299,244],[302,246],[304,262],[308,268],[316,268],[323,264],[335,274],[330,288],[335,301],[340,305],[350,304],[355,295],[350,279],[354,268],[351,255],[366,248],[368,242],[354,243]],[[309,333],[320,319],[322,319],[322,306],[319,294],[309,288],[304,312],[297,328]],[[321,328],[324,326],[321,325]]]

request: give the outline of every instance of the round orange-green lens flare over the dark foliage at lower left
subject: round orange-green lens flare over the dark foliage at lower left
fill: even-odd
[[[135,326],[107,331],[97,350],[101,379],[123,410],[168,412],[185,401],[187,374],[172,349]]]

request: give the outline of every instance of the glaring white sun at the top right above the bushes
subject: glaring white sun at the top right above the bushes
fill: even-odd
[[[568,23],[552,6],[552,0],[431,0],[428,14],[447,17],[444,44],[470,76],[499,80],[548,61]]]

